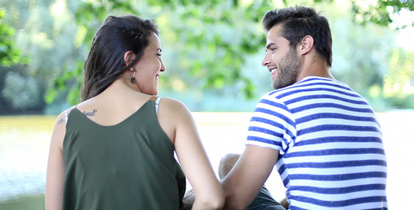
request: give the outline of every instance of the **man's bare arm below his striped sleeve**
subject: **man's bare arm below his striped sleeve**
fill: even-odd
[[[246,209],[269,177],[279,151],[247,145],[229,174],[221,181],[225,191],[224,209]]]

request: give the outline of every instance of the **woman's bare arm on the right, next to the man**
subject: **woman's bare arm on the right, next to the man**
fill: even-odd
[[[191,113],[184,104],[173,99],[163,98],[160,104],[159,114],[166,114],[162,118],[175,124],[172,139],[175,152],[196,195],[192,209],[221,209],[224,193],[201,144]],[[162,105],[168,106],[168,113],[161,113]]]

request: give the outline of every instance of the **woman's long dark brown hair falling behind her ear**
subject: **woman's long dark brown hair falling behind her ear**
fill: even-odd
[[[93,38],[84,65],[82,102],[103,92],[124,71],[138,62],[153,33],[158,35],[152,19],[143,20],[135,15],[108,16]],[[126,66],[123,55],[128,50],[136,56]]]

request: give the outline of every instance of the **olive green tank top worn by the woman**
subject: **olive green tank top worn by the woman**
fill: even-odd
[[[62,209],[179,209],[185,176],[156,118],[154,98],[111,126],[70,111]]]

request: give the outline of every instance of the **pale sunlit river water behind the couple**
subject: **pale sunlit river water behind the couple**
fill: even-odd
[[[241,153],[250,113],[193,113],[216,170],[227,153]],[[0,116],[0,210],[44,209],[48,146],[56,116]],[[378,113],[388,162],[389,209],[410,209],[414,181],[414,111]],[[266,186],[283,197],[277,174]]]

